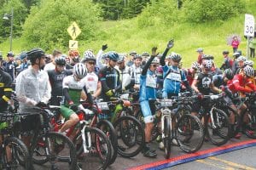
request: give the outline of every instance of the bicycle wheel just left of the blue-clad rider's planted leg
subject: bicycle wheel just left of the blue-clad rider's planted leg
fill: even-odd
[[[118,135],[118,153],[123,157],[137,156],[145,144],[142,124],[134,116],[121,116],[113,123]]]

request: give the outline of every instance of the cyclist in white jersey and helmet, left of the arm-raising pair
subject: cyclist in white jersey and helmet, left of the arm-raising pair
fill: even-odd
[[[131,68],[125,65],[125,54],[119,54],[118,71],[120,74],[120,82],[122,82],[122,91],[131,89]]]

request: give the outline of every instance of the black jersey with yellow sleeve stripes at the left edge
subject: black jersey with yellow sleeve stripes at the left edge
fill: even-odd
[[[7,111],[8,101],[12,93],[12,77],[0,69],[0,111]]]

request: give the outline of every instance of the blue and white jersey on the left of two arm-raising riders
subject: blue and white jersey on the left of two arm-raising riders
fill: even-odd
[[[146,76],[140,77],[140,101],[156,99],[156,79],[157,76],[153,71],[147,72]]]

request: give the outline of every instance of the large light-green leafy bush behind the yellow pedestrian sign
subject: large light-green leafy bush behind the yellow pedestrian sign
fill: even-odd
[[[94,37],[101,9],[90,0],[48,0],[31,8],[23,26],[26,48],[40,47],[49,51],[67,48],[71,39],[67,27],[76,21],[81,29],[78,40]]]

